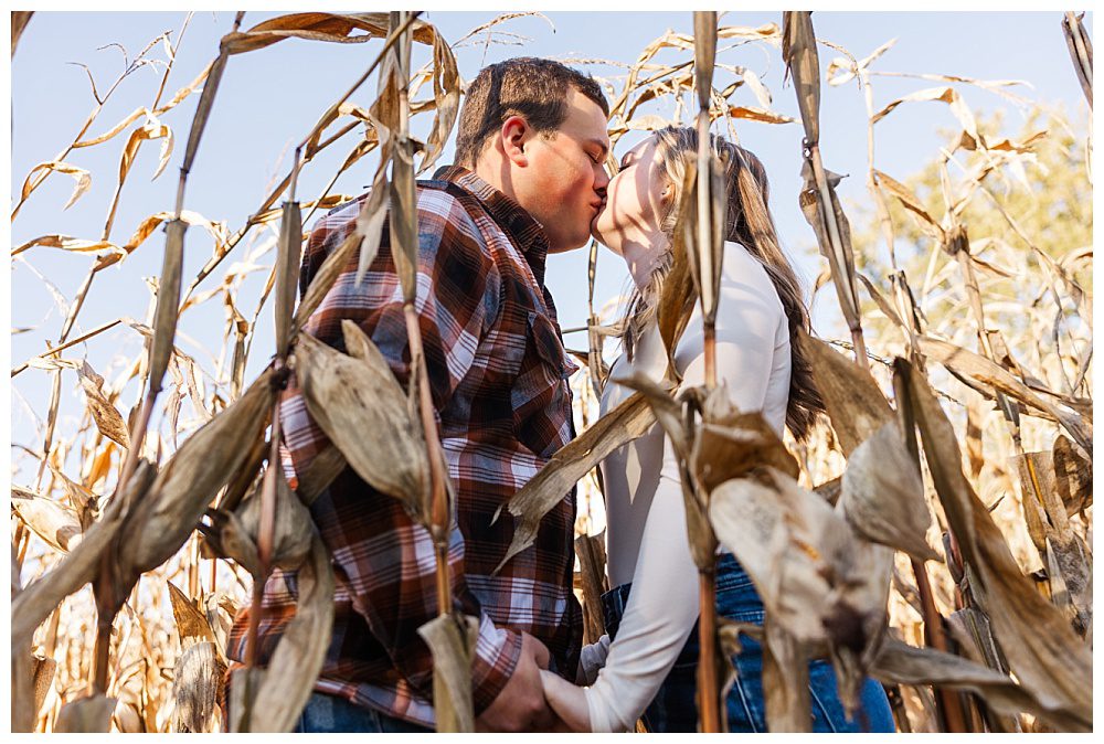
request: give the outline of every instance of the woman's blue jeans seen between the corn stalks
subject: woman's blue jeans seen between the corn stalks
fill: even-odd
[[[622,584],[602,595],[606,630],[611,639],[625,613],[631,584]],[[743,567],[731,553],[720,556],[716,564],[716,610],[723,617],[763,624],[763,603]],[[765,732],[766,701],[763,695],[763,649],[746,636],[740,638],[741,651],[732,657],[736,679],[725,700],[730,732]],[[652,732],[689,732],[698,730],[698,625],[679,652],[656,698],[644,712],[644,725]],[[836,671],[826,659],[809,661],[813,731],[815,732],[893,732],[893,714],[885,691],[877,680],[867,678],[862,685],[860,709],[854,720],[848,720],[836,690]]]

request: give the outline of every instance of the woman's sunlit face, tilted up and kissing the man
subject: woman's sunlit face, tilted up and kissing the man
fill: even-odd
[[[594,220],[592,234],[618,255],[627,243],[654,245],[671,192],[656,138],[649,137],[622,158],[620,169],[606,187],[606,203]]]

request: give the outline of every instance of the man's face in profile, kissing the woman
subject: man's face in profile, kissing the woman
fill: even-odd
[[[527,166],[510,173],[514,198],[544,226],[551,253],[582,247],[609,183],[605,114],[569,86],[567,116],[555,137],[533,134],[524,149]]]

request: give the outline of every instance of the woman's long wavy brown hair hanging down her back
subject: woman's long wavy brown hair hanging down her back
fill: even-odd
[[[671,208],[660,226],[673,245],[677,206],[681,201],[687,163],[698,153],[698,131],[691,127],[666,127],[656,132],[660,157],[673,189]],[[797,343],[797,329],[809,330],[809,313],[802,299],[802,287],[794,268],[778,244],[778,234],[767,208],[769,185],[766,169],[752,152],[715,135],[710,146],[724,166],[728,191],[728,217],[724,237],[740,243],[766,269],[782,300],[789,321],[789,350],[793,355],[789,376],[789,402],[786,426],[798,442],[808,437],[813,425],[825,412],[824,400],[813,379],[813,366]],[[655,321],[664,280],[670,272],[671,251],[660,259],[647,286],[637,289],[628,306],[624,344],[629,359],[645,328]]]

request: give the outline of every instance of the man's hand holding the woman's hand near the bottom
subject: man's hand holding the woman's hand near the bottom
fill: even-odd
[[[476,731],[552,731],[555,716],[544,700],[541,669],[549,668],[549,650],[528,633],[521,634],[521,656],[506,687],[476,719]]]

